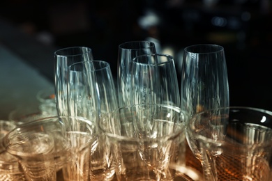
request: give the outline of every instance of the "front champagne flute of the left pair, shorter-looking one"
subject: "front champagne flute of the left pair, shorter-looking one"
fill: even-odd
[[[68,115],[96,120],[98,94],[92,61],[73,63],[68,67]],[[72,123],[73,124],[73,123]]]

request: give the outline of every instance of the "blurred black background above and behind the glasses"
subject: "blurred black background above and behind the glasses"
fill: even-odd
[[[0,40],[50,81],[54,51],[62,47],[91,47],[116,77],[122,42],[155,38],[161,52],[174,56],[178,74],[184,47],[222,45],[230,104],[272,111],[272,1],[208,1],[1,1],[0,17],[11,27],[1,32],[14,34]],[[37,46],[43,51],[33,51]]]

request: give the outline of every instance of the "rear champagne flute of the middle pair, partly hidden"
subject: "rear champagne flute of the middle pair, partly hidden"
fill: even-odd
[[[117,91],[119,107],[130,105],[130,74],[133,58],[142,54],[155,53],[155,43],[150,41],[123,42],[121,45],[119,45],[117,66]]]

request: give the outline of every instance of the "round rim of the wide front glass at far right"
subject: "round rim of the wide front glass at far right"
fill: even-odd
[[[221,108],[217,108],[217,109],[207,109],[204,111],[201,111],[199,113],[196,113],[194,116],[192,116],[191,118],[189,118],[188,120],[188,129],[191,129],[190,126],[190,120],[197,118],[197,116],[201,116],[202,114],[209,112],[209,111],[216,111],[216,110],[224,110],[224,109],[228,109],[228,110],[232,110],[232,109],[243,109],[243,110],[249,110],[249,111],[258,111],[259,113],[267,113],[269,115],[272,116],[272,111],[266,110],[266,109],[261,109],[261,108],[256,108],[256,107],[221,107]],[[260,125],[263,127],[263,125]],[[271,129],[272,131],[272,129]],[[271,132],[272,133],[272,132]],[[196,135],[197,139],[200,139],[201,141],[204,141],[205,143],[211,143],[213,145],[229,145],[232,143],[227,143],[224,140],[222,141],[215,141],[213,139],[209,139],[206,136],[202,136],[197,134]],[[235,143],[235,145],[239,148],[249,148],[252,147],[252,145],[257,145],[257,146],[266,146],[266,145],[271,145],[272,141],[265,141],[264,143],[254,143],[254,144],[249,144],[249,143],[245,143],[245,144],[239,144],[239,143]]]

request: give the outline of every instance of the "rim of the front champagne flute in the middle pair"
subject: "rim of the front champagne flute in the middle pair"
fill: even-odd
[[[137,61],[137,59],[139,59],[141,57],[151,57],[151,56],[166,57],[167,61],[163,61],[160,63],[141,63],[141,62]],[[139,56],[136,56],[135,58],[133,58],[133,63],[137,63],[139,65],[163,65],[163,64],[168,64],[168,63],[174,63],[174,57],[169,54],[142,54],[142,55],[139,55]]]

